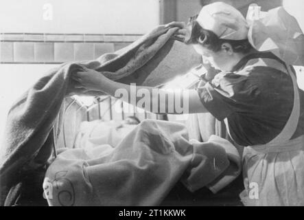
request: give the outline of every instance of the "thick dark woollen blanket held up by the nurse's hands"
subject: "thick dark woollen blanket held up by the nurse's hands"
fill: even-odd
[[[38,79],[8,113],[0,151],[1,204],[26,173],[46,166],[60,133],[65,97],[83,94],[74,88],[71,74],[86,67],[121,83],[167,83],[200,63],[191,47],[174,39],[176,30],[159,26],[118,52],[95,61],[65,63]],[[98,95],[91,91],[86,94]]]

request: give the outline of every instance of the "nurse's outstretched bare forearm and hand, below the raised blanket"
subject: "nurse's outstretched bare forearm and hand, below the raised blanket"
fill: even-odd
[[[92,80],[93,73],[78,72],[79,82],[87,89],[102,91],[115,98],[121,98],[136,107],[152,113],[206,113],[195,89],[167,90],[154,87],[142,87],[117,83],[98,74]],[[76,78],[77,80],[77,78]],[[164,98],[166,97],[166,98]]]

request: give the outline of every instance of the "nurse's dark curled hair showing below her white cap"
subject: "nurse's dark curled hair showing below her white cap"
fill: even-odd
[[[191,18],[193,19],[193,18]],[[197,21],[190,21],[188,24],[189,33],[185,37],[186,44],[200,44],[213,52],[220,51],[223,43],[229,43],[233,52],[246,54],[253,49],[248,39],[233,41],[220,39],[216,34],[209,30],[204,30]]]

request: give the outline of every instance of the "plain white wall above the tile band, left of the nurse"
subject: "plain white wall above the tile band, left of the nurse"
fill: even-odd
[[[1,32],[144,34],[158,24],[159,0],[0,1]]]

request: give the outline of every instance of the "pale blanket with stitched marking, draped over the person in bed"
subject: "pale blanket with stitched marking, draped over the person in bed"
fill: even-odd
[[[192,142],[183,124],[145,120],[115,147],[62,150],[43,187],[50,206],[157,206],[180,179],[191,192],[217,192],[239,172],[227,140]]]

